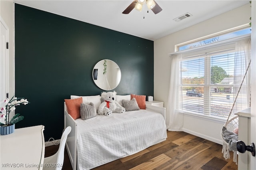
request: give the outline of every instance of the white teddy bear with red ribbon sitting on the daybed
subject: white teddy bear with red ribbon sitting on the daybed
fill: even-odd
[[[125,109],[116,101],[116,92],[102,92],[101,98],[104,100],[98,109],[98,115],[109,116],[112,113],[124,113]]]

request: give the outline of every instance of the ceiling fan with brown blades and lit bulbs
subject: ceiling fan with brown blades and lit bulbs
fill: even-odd
[[[162,11],[162,8],[154,0],[134,0],[122,14],[129,14],[134,8],[141,11],[142,6],[146,3],[149,10],[152,10],[155,14]]]

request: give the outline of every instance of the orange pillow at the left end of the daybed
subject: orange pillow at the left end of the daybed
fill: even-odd
[[[67,110],[70,116],[74,120],[80,118],[80,105],[81,103],[83,103],[83,98],[79,97],[76,99],[64,99],[64,101],[66,103]]]

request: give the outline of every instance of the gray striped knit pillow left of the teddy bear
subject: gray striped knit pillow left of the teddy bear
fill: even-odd
[[[96,107],[91,102],[90,104],[81,103],[80,115],[82,120],[90,119],[96,116]]]

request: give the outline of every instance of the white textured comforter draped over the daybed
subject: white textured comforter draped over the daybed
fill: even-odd
[[[134,154],[167,138],[164,117],[141,109],[76,119],[78,168],[88,170]]]

